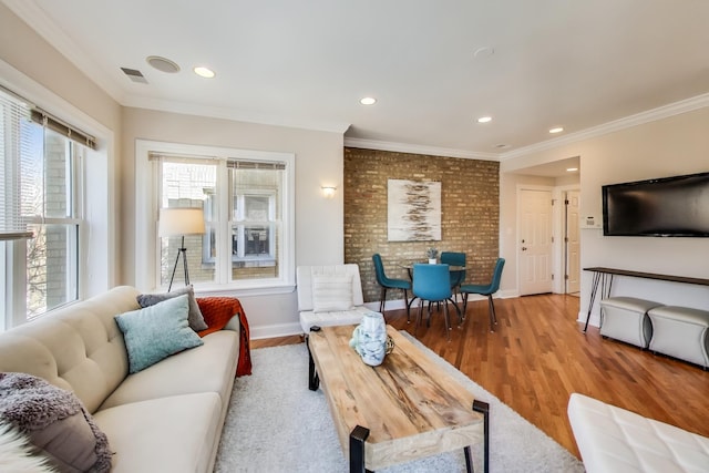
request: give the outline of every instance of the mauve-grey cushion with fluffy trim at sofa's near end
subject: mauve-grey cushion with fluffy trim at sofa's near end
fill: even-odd
[[[71,391],[31,374],[0,373],[0,418],[62,472],[111,470],[106,435]]]

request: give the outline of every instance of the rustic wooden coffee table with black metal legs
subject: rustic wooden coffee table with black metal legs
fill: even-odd
[[[309,388],[328,400],[350,472],[374,471],[483,442],[489,471],[489,405],[476,401],[393,327],[395,348],[379,367],[349,346],[354,326],[323,327],[308,337]]]

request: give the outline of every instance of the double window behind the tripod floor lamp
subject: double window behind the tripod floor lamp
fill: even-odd
[[[292,289],[292,154],[140,142],[136,160],[148,176],[136,187],[138,207],[154,203],[137,228],[155,241],[136,257],[156,261],[136,274],[138,286],[167,287],[173,273],[183,282],[175,265],[184,237],[189,282],[201,291]],[[160,209],[181,207],[204,210],[204,235],[157,235]]]

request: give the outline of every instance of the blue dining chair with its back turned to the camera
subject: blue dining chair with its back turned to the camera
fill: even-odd
[[[429,302],[429,318],[427,326],[431,326],[431,302],[443,302],[443,313],[445,315],[445,336],[451,341],[451,323],[448,316],[448,302],[453,301],[451,290],[451,277],[449,265],[413,265],[413,296],[419,298],[419,315],[414,335],[419,330],[421,316],[423,313],[423,302]]]

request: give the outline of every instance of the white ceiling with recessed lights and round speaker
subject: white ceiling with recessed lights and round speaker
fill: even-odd
[[[2,1],[123,105],[351,143],[497,158],[709,93],[707,0]]]

